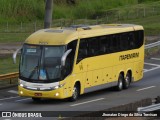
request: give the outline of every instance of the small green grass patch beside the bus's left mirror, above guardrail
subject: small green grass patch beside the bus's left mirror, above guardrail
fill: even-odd
[[[0,58],[0,74],[6,74],[11,72],[18,71],[18,63],[19,59],[17,59],[17,63],[13,64],[12,57]]]

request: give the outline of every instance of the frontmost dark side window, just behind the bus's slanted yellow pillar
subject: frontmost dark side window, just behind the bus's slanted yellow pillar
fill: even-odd
[[[86,39],[80,40],[77,63],[88,56],[88,43]]]

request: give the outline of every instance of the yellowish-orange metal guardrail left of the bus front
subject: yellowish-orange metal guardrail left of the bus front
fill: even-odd
[[[3,74],[3,75],[0,75],[0,80],[18,78],[18,76],[19,76],[18,72],[9,73],[9,74]]]

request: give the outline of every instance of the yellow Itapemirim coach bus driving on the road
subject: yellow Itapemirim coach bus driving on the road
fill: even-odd
[[[141,80],[144,30],[140,25],[102,24],[49,28],[30,35],[21,49],[20,96],[77,100],[79,95]]]

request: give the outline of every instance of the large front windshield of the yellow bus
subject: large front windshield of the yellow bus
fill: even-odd
[[[20,60],[20,78],[27,81],[59,81],[64,52],[65,46],[24,45]]]

